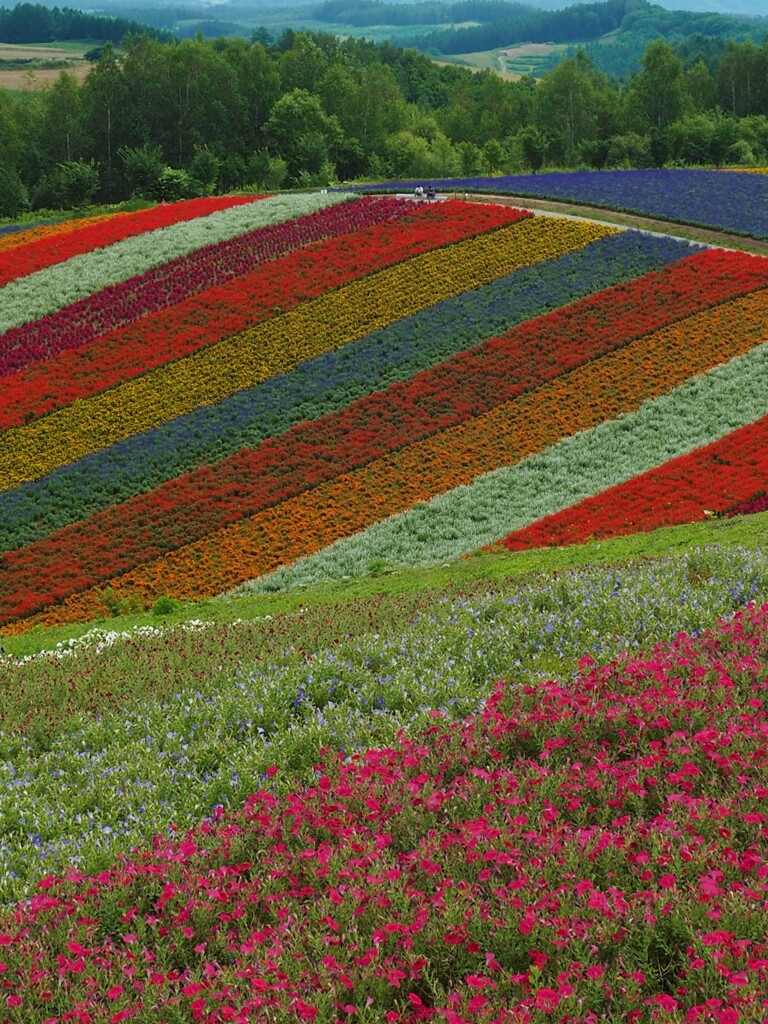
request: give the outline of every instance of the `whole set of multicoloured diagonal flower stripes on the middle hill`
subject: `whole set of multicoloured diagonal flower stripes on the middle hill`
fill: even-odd
[[[457,200],[173,209],[62,226],[25,275],[48,237],[0,250],[6,630],[461,554],[701,444],[749,462],[726,435],[763,436],[760,258]],[[606,452],[633,431],[616,479]],[[625,528],[670,486],[640,487]]]

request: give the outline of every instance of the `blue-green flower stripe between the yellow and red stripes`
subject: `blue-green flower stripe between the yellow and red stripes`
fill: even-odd
[[[407,380],[515,324],[689,252],[672,240],[626,231],[446,299],[216,406],[0,493],[0,550],[24,547],[164,480],[285,433],[302,420]]]

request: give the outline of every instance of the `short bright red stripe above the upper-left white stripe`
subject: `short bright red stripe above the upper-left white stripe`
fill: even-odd
[[[81,253],[122,242],[123,239],[154,231],[159,227],[168,227],[169,224],[179,224],[184,220],[194,220],[196,217],[207,217],[217,210],[254,203],[261,198],[216,196],[211,199],[183,200],[180,203],[156,206],[152,210],[139,210],[127,217],[115,216],[100,223],[87,223],[52,239],[37,239],[8,252],[0,252],[0,286],[7,285],[17,278],[25,278],[28,273],[35,273],[46,266],[53,266],[54,263],[62,263]]]

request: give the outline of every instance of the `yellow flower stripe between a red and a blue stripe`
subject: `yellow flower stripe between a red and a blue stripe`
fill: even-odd
[[[529,218],[353,282],[186,358],[6,431],[0,489],[37,479],[442,299],[610,233],[613,228],[586,221]]]

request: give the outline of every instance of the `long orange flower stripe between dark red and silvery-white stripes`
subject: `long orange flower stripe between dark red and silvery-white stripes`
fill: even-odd
[[[199,600],[358,532],[435,495],[512,465],[564,436],[637,409],[763,341],[768,291],[725,303],[626,347],[399,452],[223,527],[141,565],[110,590],[152,604],[167,594]],[[5,627],[23,632],[103,613],[105,588]]]

